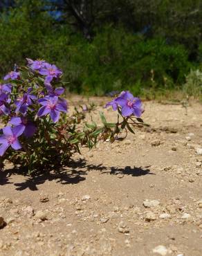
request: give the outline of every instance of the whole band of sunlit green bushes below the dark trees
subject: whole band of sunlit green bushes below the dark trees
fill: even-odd
[[[87,42],[68,25],[55,25],[41,6],[25,3],[0,17],[0,74],[30,56],[54,62],[64,70],[64,80],[76,93],[104,95],[130,88],[174,88],[185,82],[192,66],[181,45],[165,39],[145,39],[122,27],[107,26]],[[34,24],[34,26],[33,26]]]

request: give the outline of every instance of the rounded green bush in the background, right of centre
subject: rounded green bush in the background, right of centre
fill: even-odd
[[[77,69],[66,71],[71,90],[103,95],[129,87],[141,92],[143,87],[170,88],[183,84],[190,70],[183,46],[169,46],[164,39],[131,35],[122,28],[106,28],[93,42],[77,42],[69,52]]]

